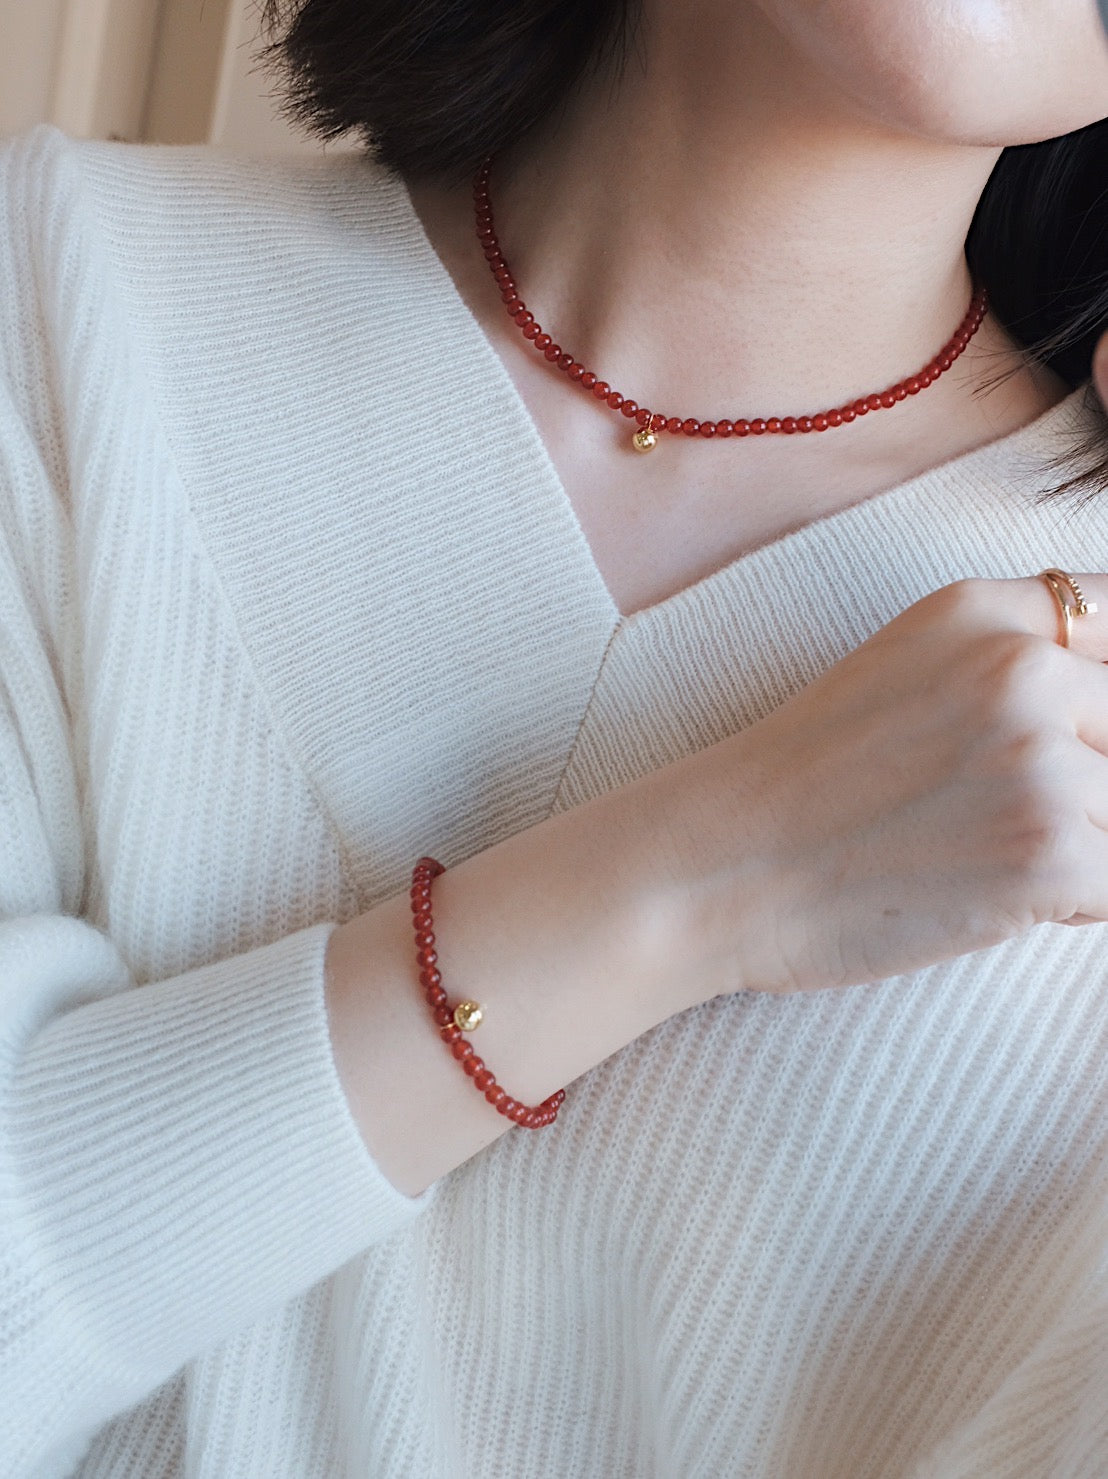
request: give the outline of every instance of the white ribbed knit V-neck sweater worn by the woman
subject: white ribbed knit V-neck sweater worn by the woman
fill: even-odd
[[[717,997],[416,1199],[322,998],[422,852],[957,577],[1108,569],[1036,501],[1087,387],[620,617],[401,182],[0,172],[0,1473],[1108,1473],[1105,926]]]

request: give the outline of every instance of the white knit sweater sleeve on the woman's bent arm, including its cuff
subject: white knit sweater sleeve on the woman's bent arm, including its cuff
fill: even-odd
[[[30,324],[34,282],[4,269],[0,287],[9,330],[19,315]],[[24,339],[34,337],[28,327]],[[34,395],[28,377],[41,382]],[[435,1194],[398,1192],[349,1112],[322,991],[333,924],[139,985],[87,917],[80,679],[67,651],[72,532],[47,380],[49,365],[21,359],[9,334],[0,373],[0,1473],[9,1479],[59,1472],[111,1417],[404,1228]]]

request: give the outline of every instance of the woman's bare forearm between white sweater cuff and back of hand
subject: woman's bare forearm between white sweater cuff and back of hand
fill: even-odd
[[[524,1103],[716,994],[689,936],[673,779],[643,776],[435,880],[444,986],[482,1004],[473,1049]],[[327,978],[339,1074],[395,1186],[416,1195],[510,1128],[438,1037],[407,893],[334,932]]]

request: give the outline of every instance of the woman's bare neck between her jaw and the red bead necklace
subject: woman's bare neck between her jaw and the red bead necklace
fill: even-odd
[[[751,6],[741,34],[648,7],[618,81],[589,78],[493,170],[536,315],[641,404],[803,416],[925,364],[970,297],[963,244],[996,148],[864,117]],[[962,365],[999,365],[979,336]]]

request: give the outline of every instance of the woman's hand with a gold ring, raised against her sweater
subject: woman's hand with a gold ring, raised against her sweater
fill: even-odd
[[[962,581],[694,757],[715,774],[686,877],[701,938],[731,930],[719,991],[877,981],[1108,918],[1108,577],[1077,578],[1099,614],[1070,649],[1044,581]]]

